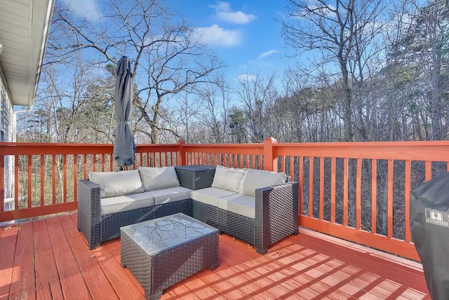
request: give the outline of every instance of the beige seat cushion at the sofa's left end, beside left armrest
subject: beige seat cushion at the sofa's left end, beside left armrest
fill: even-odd
[[[116,212],[127,212],[142,207],[154,205],[154,198],[146,193],[132,193],[125,196],[102,198],[100,202],[101,213],[114,214]]]

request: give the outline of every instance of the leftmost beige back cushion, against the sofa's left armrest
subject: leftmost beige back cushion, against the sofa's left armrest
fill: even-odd
[[[90,172],[89,180],[101,186],[101,198],[142,193],[144,190],[138,170],[119,172]]]

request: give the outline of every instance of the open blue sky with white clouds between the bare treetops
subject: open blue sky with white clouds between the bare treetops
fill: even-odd
[[[62,0],[79,15],[98,18],[101,0]],[[287,59],[281,25],[285,0],[166,0],[203,35],[203,41],[227,64],[230,83],[255,74],[281,75]]]

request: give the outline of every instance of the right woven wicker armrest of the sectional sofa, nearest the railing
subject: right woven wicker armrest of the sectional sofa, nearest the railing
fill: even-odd
[[[260,254],[286,236],[297,235],[298,193],[297,182],[255,190],[255,248]]]

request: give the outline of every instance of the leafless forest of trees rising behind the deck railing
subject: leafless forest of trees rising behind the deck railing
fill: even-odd
[[[286,1],[277,22],[288,67],[237,83],[168,4],[106,0],[93,24],[56,1],[18,141],[113,143],[123,54],[133,66],[138,144],[448,139],[447,0]]]

